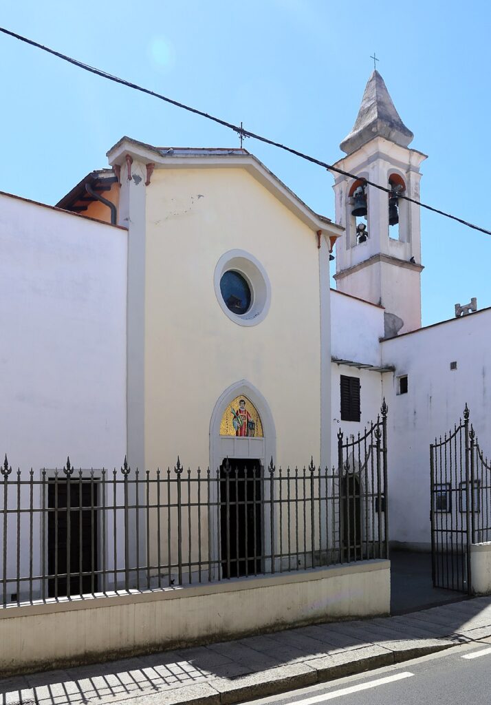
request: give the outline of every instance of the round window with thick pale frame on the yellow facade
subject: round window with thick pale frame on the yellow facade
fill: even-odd
[[[237,325],[256,326],[268,314],[271,302],[268,275],[249,252],[225,252],[216,263],[213,284],[220,308]]]

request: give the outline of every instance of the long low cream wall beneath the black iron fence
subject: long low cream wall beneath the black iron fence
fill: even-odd
[[[0,610],[0,676],[386,615],[390,562]]]

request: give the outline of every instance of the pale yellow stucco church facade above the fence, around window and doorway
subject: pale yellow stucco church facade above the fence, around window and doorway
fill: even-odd
[[[156,170],[146,202],[147,467],[173,465],[178,453],[185,465],[206,466],[213,408],[242,379],[270,407],[277,465],[318,458],[315,233],[240,168]],[[236,248],[259,260],[271,282],[271,307],[256,326],[237,325],[217,300],[216,264]]]

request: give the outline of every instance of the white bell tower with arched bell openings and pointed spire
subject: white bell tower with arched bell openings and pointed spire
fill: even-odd
[[[336,243],[337,289],[385,307],[385,336],[421,328],[419,166],[426,155],[408,145],[406,128],[385,82],[373,71],[349,135],[347,156],[334,164],[336,221],[345,228]],[[366,182],[380,184],[390,193]]]

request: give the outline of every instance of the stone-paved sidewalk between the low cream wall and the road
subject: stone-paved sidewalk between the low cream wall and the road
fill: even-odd
[[[260,608],[260,606],[258,606]],[[220,705],[491,637],[491,597],[0,680],[2,705]]]

